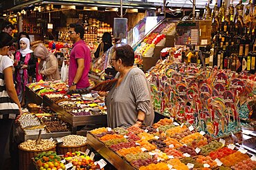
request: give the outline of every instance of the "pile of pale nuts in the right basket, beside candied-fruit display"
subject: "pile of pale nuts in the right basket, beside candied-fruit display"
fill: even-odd
[[[79,135],[68,135],[62,137],[64,147],[77,147],[86,143],[86,137]]]

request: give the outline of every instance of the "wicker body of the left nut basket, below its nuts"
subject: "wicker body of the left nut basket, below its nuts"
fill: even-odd
[[[31,158],[34,158],[38,153],[42,153],[43,151],[55,151],[55,148],[56,146],[42,151],[29,151],[19,147],[19,170],[35,169]]]

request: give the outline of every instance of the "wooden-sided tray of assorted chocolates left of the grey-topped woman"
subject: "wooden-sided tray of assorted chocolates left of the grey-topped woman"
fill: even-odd
[[[73,127],[107,124],[107,108],[102,100],[93,97],[92,94],[54,95],[45,95],[44,104],[63,116]]]

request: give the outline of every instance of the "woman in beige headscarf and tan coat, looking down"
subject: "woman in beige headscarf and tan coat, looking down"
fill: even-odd
[[[41,59],[38,65],[38,74],[42,74],[44,80],[55,81],[60,79],[57,59],[54,54],[48,52],[42,43],[35,48],[34,55]]]

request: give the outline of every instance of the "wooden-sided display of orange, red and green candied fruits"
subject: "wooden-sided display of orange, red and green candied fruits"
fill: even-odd
[[[228,142],[231,137],[214,139],[187,125],[165,118],[142,129],[102,127],[89,131],[87,142],[117,169],[239,169],[246,162],[256,168],[255,155]]]

